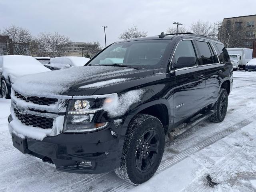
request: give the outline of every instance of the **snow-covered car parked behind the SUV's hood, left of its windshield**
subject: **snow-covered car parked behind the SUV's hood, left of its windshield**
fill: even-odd
[[[84,66],[90,59],[86,57],[54,57],[50,59],[50,63],[44,66],[48,67],[50,70],[66,69],[70,67],[80,67]]]

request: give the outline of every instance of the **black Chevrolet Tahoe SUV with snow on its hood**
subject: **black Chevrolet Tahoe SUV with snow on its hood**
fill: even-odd
[[[233,69],[224,45],[194,34],[116,42],[86,66],[22,77],[12,86],[13,144],[57,170],[115,170],[141,184],[165,134],[198,114],[224,120]]]

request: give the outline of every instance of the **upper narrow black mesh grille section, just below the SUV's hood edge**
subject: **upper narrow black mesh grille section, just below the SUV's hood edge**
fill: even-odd
[[[35,96],[25,97],[16,91],[14,91],[14,96],[16,96],[17,98],[24,100],[26,102],[32,102],[32,103],[38,104],[38,105],[49,106],[50,104],[55,104],[56,102],[58,102],[58,99],[56,99],[56,98],[35,97]]]

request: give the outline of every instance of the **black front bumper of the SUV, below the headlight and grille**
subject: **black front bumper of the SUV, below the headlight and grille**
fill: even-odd
[[[8,118],[11,121],[11,116]],[[98,132],[47,136],[42,141],[26,138],[25,153],[57,170],[99,174],[120,166],[124,136],[113,123]],[[115,132],[115,134],[113,134]],[[15,139],[15,138],[14,138]],[[81,162],[90,162],[83,166]]]

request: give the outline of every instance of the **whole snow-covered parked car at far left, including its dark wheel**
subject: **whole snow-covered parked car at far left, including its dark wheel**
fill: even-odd
[[[50,71],[31,56],[8,55],[0,56],[0,93],[10,98],[12,84],[20,77]]]

